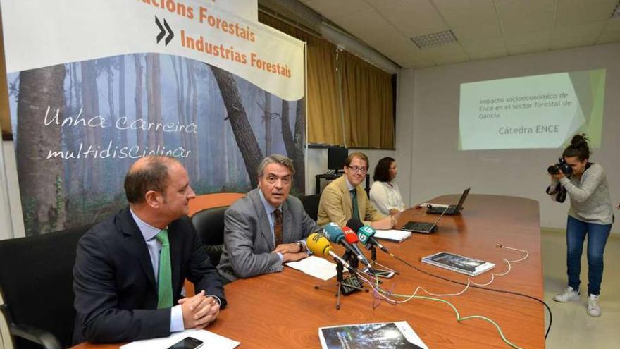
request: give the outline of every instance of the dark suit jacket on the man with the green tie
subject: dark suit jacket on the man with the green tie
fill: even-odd
[[[168,224],[174,304],[185,278],[196,293],[220,298],[218,273],[201,247],[192,222]],[[142,233],[129,208],[91,228],[77,245],[73,268],[73,343],[116,343],[170,335],[171,310],[157,309],[157,285]]]

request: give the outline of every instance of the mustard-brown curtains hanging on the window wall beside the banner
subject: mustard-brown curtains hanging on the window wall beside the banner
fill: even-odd
[[[394,148],[390,74],[272,16],[259,21],[306,42],[309,143]]]

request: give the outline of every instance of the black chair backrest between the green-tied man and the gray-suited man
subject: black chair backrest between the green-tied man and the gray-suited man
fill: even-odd
[[[228,206],[203,209],[192,216],[192,224],[196,227],[198,236],[213,265],[219,263],[224,246],[224,212],[226,209]]]

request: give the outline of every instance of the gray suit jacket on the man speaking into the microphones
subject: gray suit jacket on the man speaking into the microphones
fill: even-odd
[[[271,253],[275,249],[273,233],[259,190],[250,190],[226,210],[224,250],[218,264],[223,281],[282,271],[280,257]],[[282,205],[282,216],[283,243],[304,240],[310,233],[320,230],[306,214],[302,202],[292,195]]]

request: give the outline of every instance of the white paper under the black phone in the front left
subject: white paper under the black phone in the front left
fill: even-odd
[[[169,337],[145,339],[143,341],[135,341],[123,345],[120,349],[166,349],[181,341],[185,337],[193,337],[202,341],[204,349],[233,349],[240,342],[233,341],[226,337],[206,330],[187,329],[182,332],[176,332]]]

